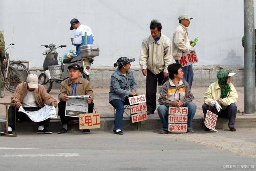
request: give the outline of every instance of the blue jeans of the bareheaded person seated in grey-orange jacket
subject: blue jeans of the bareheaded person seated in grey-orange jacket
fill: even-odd
[[[193,102],[188,103],[182,107],[188,107],[188,129],[192,129],[192,120],[196,113],[196,105]],[[158,115],[163,124],[163,130],[168,130],[168,107],[160,105],[157,108]]]

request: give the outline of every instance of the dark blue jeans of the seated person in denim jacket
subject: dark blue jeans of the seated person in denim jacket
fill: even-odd
[[[115,115],[115,122],[114,122],[114,129],[123,129],[123,115],[124,115],[124,101],[120,99],[112,99],[109,102],[115,109],[116,109],[116,115]]]

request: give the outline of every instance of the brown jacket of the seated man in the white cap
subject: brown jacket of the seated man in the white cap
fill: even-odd
[[[27,83],[21,83],[17,85],[13,96],[11,97],[11,103],[22,102],[24,97],[27,95],[28,88]],[[34,96],[38,107],[44,107],[45,104],[51,105],[52,102],[56,102],[52,96],[50,96],[43,85],[38,85],[37,89],[34,89]]]

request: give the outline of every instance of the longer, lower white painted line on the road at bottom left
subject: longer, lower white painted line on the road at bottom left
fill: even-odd
[[[0,157],[76,157],[78,153],[50,153],[50,154],[6,154]]]

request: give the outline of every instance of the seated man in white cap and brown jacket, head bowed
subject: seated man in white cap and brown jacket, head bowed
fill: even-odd
[[[26,111],[37,111],[44,107],[45,104],[53,105],[57,107],[57,101],[52,96],[48,95],[43,85],[38,84],[38,77],[36,74],[29,74],[27,82],[17,85],[13,96],[11,97],[11,103],[15,103],[15,106],[10,106],[8,109],[8,133],[12,134],[12,130],[15,129],[15,116],[20,121],[30,121],[30,118],[26,113],[18,111],[20,106]],[[39,127],[36,133],[52,133],[47,130],[50,123],[50,118],[38,122]]]

